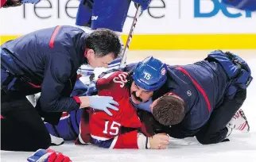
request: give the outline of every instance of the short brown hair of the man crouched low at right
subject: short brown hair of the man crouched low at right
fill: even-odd
[[[165,95],[157,100],[152,114],[162,125],[176,125],[185,116],[185,103],[181,98]]]

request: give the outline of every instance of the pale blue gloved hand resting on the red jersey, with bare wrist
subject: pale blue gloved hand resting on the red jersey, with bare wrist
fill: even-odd
[[[111,114],[111,111],[107,109],[112,109],[116,111],[118,110],[116,106],[119,106],[119,104],[118,102],[115,102],[113,97],[111,96],[93,95],[93,96],[82,96],[79,98],[80,98],[80,101],[82,102],[80,105],[80,108],[90,106],[91,108],[96,110],[103,110],[110,116],[112,116],[113,114]]]

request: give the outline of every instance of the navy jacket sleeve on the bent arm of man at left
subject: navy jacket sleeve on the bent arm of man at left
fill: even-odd
[[[62,54],[52,53],[45,60],[45,75],[41,85],[41,109],[47,112],[78,110],[80,103],[70,97],[72,85],[72,61]]]

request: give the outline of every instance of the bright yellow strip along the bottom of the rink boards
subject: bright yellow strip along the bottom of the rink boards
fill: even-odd
[[[0,43],[19,36],[0,36]],[[122,35],[126,42],[127,35]],[[166,34],[134,35],[130,50],[256,49],[256,34]],[[256,53],[255,53],[256,54]]]

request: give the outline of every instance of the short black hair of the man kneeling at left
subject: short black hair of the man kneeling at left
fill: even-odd
[[[110,52],[117,58],[121,51],[118,35],[110,29],[96,29],[85,40],[87,48],[95,51],[96,57],[107,56]]]

